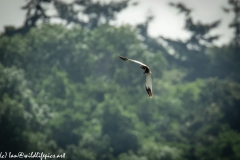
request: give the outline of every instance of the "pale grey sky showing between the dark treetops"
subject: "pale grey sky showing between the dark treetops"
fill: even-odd
[[[64,1],[64,0],[63,0]],[[71,1],[71,0],[65,0]],[[110,0],[101,0],[110,1]],[[25,11],[20,7],[26,4],[27,0],[1,0],[0,1],[0,32],[6,25],[21,26],[24,22]],[[159,35],[173,39],[186,39],[189,33],[184,31],[184,15],[178,10],[170,7],[169,2],[183,2],[188,8],[195,21],[203,23],[213,22],[221,19],[220,26],[212,31],[212,35],[221,34],[216,42],[217,45],[226,44],[233,36],[233,30],[228,25],[233,19],[233,14],[224,13],[223,6],[228,6],[227,0],[135,0],[137,6],[130,6],[118,15],[117,25],[143,22],[146,15],[151,13],[155,16],[149,28],[151,36]]]

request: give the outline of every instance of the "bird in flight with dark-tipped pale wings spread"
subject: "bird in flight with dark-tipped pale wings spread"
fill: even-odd
[[[119,58],[121,58],[124,61],[131,61],[131,62],[140,64],[141,69],[144,70],[143,74],[146,74],[145,89],[146,89],[149,97],[152,98],[153,97],[153,94],[152,94],[152,76],[151,76],[152,72],[150,71],[150,68],[146,64],[143,64],[142,62],[139,62],[139,61],[136,61],[136,60],[128,59],[128,58],[125,58],[123,56],[119,56]]]

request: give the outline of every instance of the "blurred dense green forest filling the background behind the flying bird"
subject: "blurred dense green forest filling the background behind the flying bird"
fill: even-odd
[[[234,39],[214,46],[221,20],[196,22],[182,3],[170,5],[185,15],[185,41],[149,36],[152,15],[112,25],[133,1],[27,1],[24,25],[0,36],[0,152],[239,160],[240,2],[228,2]],[[140,67],[119,55],[150,66],[152,99]]]

